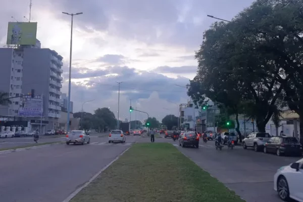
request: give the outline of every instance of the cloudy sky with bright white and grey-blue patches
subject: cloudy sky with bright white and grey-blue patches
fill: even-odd
[[[194,51],[213,15],[230,20],[252,0],[32,0],[32,22],[43,48],[64,57],[63,92],[67,92],[70,16],[74,17],[71,99],[74,112],[109,107],[120,119],[132,106],[159,120],[177,115],[186,103],[185,86],[196,73]],[[29,18],[29,0],[1,0],[0,45],[9,21]],[[24,18],[24,16],[26,18]],[[132,119],[134,118],[132,115]],[[137,114],[137,119],[145,119]]]

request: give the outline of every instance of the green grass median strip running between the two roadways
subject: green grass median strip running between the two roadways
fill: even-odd
[[[169,143],[137,143],[71,202],[243,202]]]

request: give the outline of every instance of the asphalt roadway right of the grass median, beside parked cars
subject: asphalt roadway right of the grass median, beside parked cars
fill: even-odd
[[[162,138],[164,139],[164,138]],[[233,150],[216,150],[214,141],[200,143],[200,147],[182,148],[178,142],[171,142],[202,169],[234,190],[247,202],[278,202],[273,190],[273,177],[277,169],[293,163],[298,157],[277,157],[252,149],[235,147]]]

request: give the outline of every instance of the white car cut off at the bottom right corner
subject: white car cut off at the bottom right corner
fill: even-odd
[[[303,159],[283,166],[277,170],[274,176],[274,190],[282,200],[289,198],[303,202]]]

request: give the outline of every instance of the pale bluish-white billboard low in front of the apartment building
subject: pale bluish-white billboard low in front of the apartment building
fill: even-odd
[[[42,95],[35,95],[34,98],[31,98],[31,95],[20,97],[22,107],[19,108],[19,116],[41,117],[43,113],[42,97]]]

